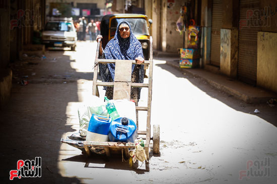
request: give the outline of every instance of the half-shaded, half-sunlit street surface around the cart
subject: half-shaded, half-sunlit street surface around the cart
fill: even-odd
[[[150,171],[144,165],[129,168],[121,155],[87,157],[60,143],[79,130],[78,108],[92,103],[96,42],[78,42],[76,50],[47,50],[45,58],[28,55],[12,64],[11,99],[1,111],[5,183],[12,183],[10,170],[18,160],[35,157],[42,160],[41,178],[14,178],[13,183],[276,182],[277,107],[228,96],[166,65],[167,58],[154,57],[151,128],[160,124],[161,155],[150,153]],[[29,84],[21,85],[22,80]],[[143,89],[140,105],[146,104]],[[146,113],[140,117],[140,130],[146,130]],[[250,165],[252,175],[248,163],[256,163]],[[254,173],[257,167],[263,174]]]

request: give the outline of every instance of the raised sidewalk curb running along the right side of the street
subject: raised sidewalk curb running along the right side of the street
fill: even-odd
[[[233,89],[233,88],[230,88],[228,86],[225,86],[223,84],[220,84],[216,81],[213,81],[211,79],[208,79],[208,78],[205,78],[205,77],[202,77],[202,76],[199,76],[197,74],[195,74],[191,69],[185,69],[185,68],[179,68],[179,66],[177,66],[176,64],[170,62],[170,61],[166,61],[166,64],[167,65],[170,65],[176,69],[178,69],[179,71],[181,72],[186,72],[186,73],[189,73],[190,75],[193,75],[195,77],[198,77],[198,78],[201,78],[202,80],[204,80],[205,82],[207,82],[208,84],[210,84],[211,86],[221,90],[221,91],[224,91],[225,93],[229,94],[229,95],[232,95],[246,103],[252,103],[252,104],[259,104],[259,103],[266,103],[270,98],[276,98],[277,95],[272,95],[271,97],[270,96],[264,96],[264,97],[254,97],[254,96],[249,96],[249,95],[246,95],[236,89]]]

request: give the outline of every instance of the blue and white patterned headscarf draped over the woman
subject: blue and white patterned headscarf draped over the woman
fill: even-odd
[[[130,36],[126,39],[121,38],[119,34],[119,26],[122,24],[128,25],[130,29]],[[106,59],[117,59],[117,60],[135,60],[137,57],[144,57],[143,55],[143,48],[135,36],[131,31],[131,26],[128,22],[122,21],[117,25],[115,36],[112,40],[108,42],[105,47],[104,55]],[[105,69],[105,65],[99,64],[100,75],[102,81],[108,82],[109,78],[112,78],[114,81],[114,69],[115,64],[109,63],[107,64],[108,71]],[[132,65],[132,72],[135,65]],[[141,66],[141,70],[144,71],[144,65]],[[143,72],[142,72],[143,73]],[[144,74],[140,76],[139,82],[143,83]]]

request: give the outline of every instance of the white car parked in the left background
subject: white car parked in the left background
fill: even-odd
[[[46,47],[71,47],[76,49],[77,34],[72,18],[49,18],[42,32]]]

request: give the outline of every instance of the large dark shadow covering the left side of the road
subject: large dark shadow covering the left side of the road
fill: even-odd
[[[79,101],[78,73],[70,65],[74,61],[62,53],[48,52],[47,57],[52,60],[26,57],[12,66],[11,98],[0,112],[2,183],[9,182],[10,170],[17,169],[18,160],[34,160],[35,157],[41,157],[41,177],[14,178],[13,182],[80,183],[77,177],[62,176],[57,165],[61,136],[75,131],[66,124],[71,118],[66,115],[66,107],[70,102]],[[82,77],[90,79],[90,75]],[[75,82],[65,83],[68,78]],[[21,85],[21,80],[30,83]]]

